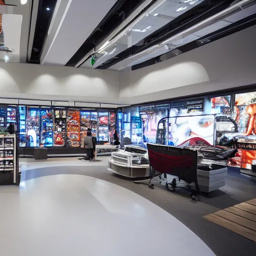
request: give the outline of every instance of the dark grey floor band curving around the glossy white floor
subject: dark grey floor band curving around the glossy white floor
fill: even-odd
[[[75,161],[79,161],[74,159]],[[256,197],[256,181],[243,178],[236,170],[230,170],[225,178],[226,185],[208,196],[201,195],[200,201],[192,201],[189,192],[176,189],[170,192],[159,179],[154,180],[155,189],[149,189],[146,184],[135,184],[107,171],[106,166],[54,166],[29,169],[22,173],[21,180],[54,174],[81,174],[100,178],[127,188],[176,217],[195,234],[197,234],[218,255],[255,255],[256,242],[250,241],[234,232],[211,223],[202,217],[219,209],[243,202]],[[157,224],[157,216],[155,223]],[[171,226],[166,226],[169,232],[175,232]],[[159,234],[152,234],[159,235]],[[148,244],[150,246],[150,244]],[[166,254],[171,254],[171,241],[166,244]],[[193,252],[191,251],[191,255]]]

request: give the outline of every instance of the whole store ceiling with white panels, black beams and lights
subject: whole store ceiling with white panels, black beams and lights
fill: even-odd
[[[135,70],[256,24],[256,0],[0,0],[0,61]]]

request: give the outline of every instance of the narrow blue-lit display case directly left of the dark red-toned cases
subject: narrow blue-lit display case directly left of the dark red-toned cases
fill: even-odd
[[[40,146],[50,147],[53,146],[53,110],[40,109]]]

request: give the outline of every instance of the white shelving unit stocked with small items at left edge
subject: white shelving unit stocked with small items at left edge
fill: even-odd
[[[16,137],[0,134],[0,185],[16,183]]]

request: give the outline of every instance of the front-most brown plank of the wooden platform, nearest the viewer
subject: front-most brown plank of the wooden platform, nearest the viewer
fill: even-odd
[[[256,242],[256,232],[247,227],[236,224],[215,214],[206,215],[204,218]]]

